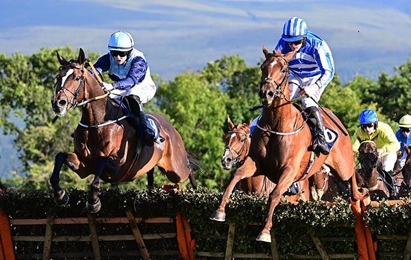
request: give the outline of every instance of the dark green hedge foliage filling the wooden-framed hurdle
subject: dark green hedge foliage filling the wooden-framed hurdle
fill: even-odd
[[[0,208],[12,219],[45,218],[47,215],[55,217],[86,217],[85,204],[88,193],[76,189],[69,190],[70,201],[66,206],[55,206],[51,193],[46,191],[26,191],[21,193],[8,189],[0,193]],[[262,226],[266,213],[267,198],[258,198],[241,191],[235,191],[227,205],[227,222],[211,222],[208,217],[217,208],[222,193],[215,189],[199,188],[181,190],[174,195],[163,189],[152,191],[119,191],[117,189],[103,189],[100,194],[102,208],[96,217],[125,217],[125,211],[130,210],[136,217],[175,217],[181,211],[190,222],[192,236],[196,239],[197,251],[225,252],[225,237],[228,224],[236,226],[234,252],[271,253],[269,244],[254,241]],[[22,206],[24,205],[24,206]],[[364,218],[377,235],[407,235],[410,232],[410,204],[372,208],[366,211]],[[328,253],[356,253],[355,235],[353,226],[355,217],[350,204],[345,200],[338,200],[336,204],[328,205],[325,202],[300,202],[289,204],[281,202],[273,216],[273,233],[277,239],[277,248],[280,255],[292,258],[291,254],[318,255],[318,251],[309,235],[313,232],[321,237],[343,237],[344,241],[327,241],[321,239]],[[25,229],[24,229],[25,228]],[[57,226],[55,227],[57,228]],[[69,228],[60,227],[64,235],[88,235],[84,226],[70,225]],[[99,235],[109,230],[119,233],[131,233],[129,226],[121,224],[101,229],[97,226]],[[145,233],[147,225],[141,224],[140,230]],[[159,229],[160,228],[160,229]],[[162,232],[164,226],[156,227],[151,233]],[[172,229],[174,226],[171,227]],[[45,230],[35,230],[32,226],[14,228],[13,235],[23,235],[29,229],[30,235],[44,235]],[[175,232],[175,231],[168,231]],[[102,234],[103,233],[103,234]],[[27,233],[26,233],[27,234]],[[175,243],[175,242],[174,242]],[[380,256],[386,252],[402,254],[406,243],[388,243],[380,241]],[[117,246],[127,248],[126,244]],[[134,244],[135,246],[135,244]],[[54,248],[54,246],[53,246]],[[101,250],[108,250],[110,246],[101,244]],[[157,248],[158,249],[158,248]],[[18,244],[17,253],[27,250],[25,244]],[[79,244],[65,246],[64,252],[82,251]],[[87,250],[86,250],[87,251]],[[381,257],[383,259],[384,257]],[[388,258],[386,258],[388,259]]]

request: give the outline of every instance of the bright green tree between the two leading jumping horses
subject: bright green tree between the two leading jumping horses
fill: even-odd
[[[182,135],[186,148],[199,156],[203,174],[200,185],[221,187],[227,173],[220,166],[224,150],[223,123],[227,95],[199,73],[182,73],[158,88],[157,104]]]

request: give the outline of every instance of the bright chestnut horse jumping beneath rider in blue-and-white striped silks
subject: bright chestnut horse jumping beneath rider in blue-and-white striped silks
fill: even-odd
[[[344,134],[343,124],[330,111],[327,114],[334,119],[324,117],[327,128],[338,135],[334,145],[327,155],[316,154],[315,160],[308,167],[312,152],[312,134],[310,127],[293,101],[290,100],[288,82],[288,60],[295,53],[282,55],[280,52],[270,53],[262,48],[265,60],[261,65],[262,77],[259,96],[264,106],[262,117],[251,136],[249,154],[244,163],[233,174],[229,185],[223,193],[221,204],[210,219],[219,222],[225,221],[225,205],[229,201],[237,182],[243,178],[264,175],[277,185],[269,196],[269,209],[264,219],[262,231],[257,241],[271,242],[271,226],[273,225],[274,209],[282,199],[284,192],[293,182],[303,180],[319,171],[323,164],[327,165],[332,174],[351,184],[351,197],[354,200],[362,198],[358,189],[355,175],[354,154],[350,137]],[[335,122],[335,123],[334,123]],[[336,127],[339,124],[339,128]],[[347,132],[347,130],[345,130]]]

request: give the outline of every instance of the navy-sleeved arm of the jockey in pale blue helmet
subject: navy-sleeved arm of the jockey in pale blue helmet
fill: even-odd
[[[136,84],[144,80],[145,74],[147,72],[147,67],[148,64],[143,58],[134,58],[132,60],[132,66],[129,69],[127,77],[123,80],[114,82],[113,87],[117,89],[127,89],[134,87]]]

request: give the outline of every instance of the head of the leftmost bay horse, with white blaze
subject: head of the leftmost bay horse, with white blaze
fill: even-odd
[[[69,108],[73,108],[77,103],[84,99],[85,95],[85,80],[84,56],[83,49],[80,48],[77,60],[67,61],[56,51],[58,61],[62,65],[60,73],[57,75],[55,82],[55,93],[51,99],[53,111],[59,117],[66,115]]]

